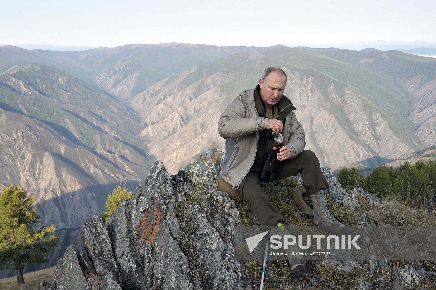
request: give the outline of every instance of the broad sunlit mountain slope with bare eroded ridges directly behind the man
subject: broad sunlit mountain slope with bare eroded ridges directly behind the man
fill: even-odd
[[[219,115],[267,66],[287,72],[285,95],[322,165],[372,167],[425,147],[406,120],[412,101],[399,81],[328,53],[277,46],[233,54],[160,81],[129,103],[147,125],[141,136],[150,154],[170,172],[205,148],[224,148]]]

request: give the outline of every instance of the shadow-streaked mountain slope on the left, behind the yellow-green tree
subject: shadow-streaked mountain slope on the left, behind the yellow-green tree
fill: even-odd
[[[150,161],[134,113],[116,97],[41,65],[0,74],[0,185],[23,186],[41,223],[80,226],[119,182],[134,187]]]

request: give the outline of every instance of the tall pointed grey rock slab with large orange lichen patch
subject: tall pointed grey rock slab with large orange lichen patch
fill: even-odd
[[[190,268],[170,220],[178,223],[173,203],[177,192],[162,162],[155,162],[150,174],[132,194],[130,223],[136,255],[142,266],[146,288],[192,289]],[[173,216],[172,219],[168,216]],[[149,266],[152,265],[152,266]]]

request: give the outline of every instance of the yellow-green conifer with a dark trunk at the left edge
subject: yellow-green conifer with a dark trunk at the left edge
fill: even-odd
[[[47,262],[45,255],[58,240],[54,225],[35,230],[41,219],[32,207],[34,201],[18,186],[5,186],[0,193],[0,270],[17,270],[20,284],[24,283],[23,269]]]

